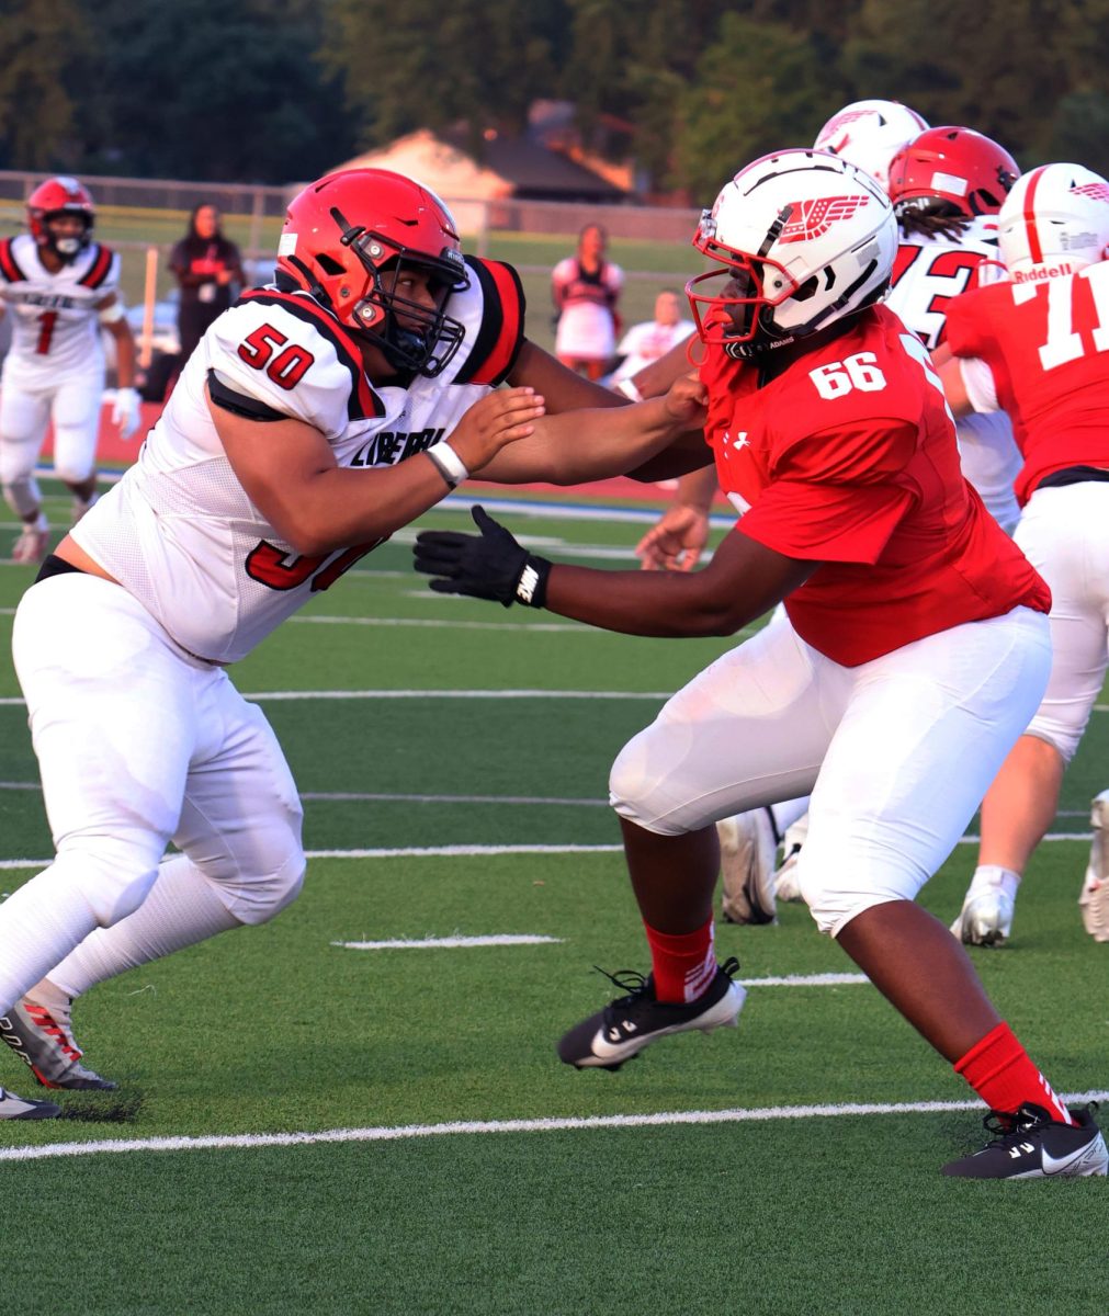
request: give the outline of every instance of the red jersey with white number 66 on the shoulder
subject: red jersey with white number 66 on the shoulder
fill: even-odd
[[[822,566],[785,600],[794,629],[855,667],[1051,594],[959,468],[927,350],[886,307],[757,387],[709,349],[706,434],[739,533]]]

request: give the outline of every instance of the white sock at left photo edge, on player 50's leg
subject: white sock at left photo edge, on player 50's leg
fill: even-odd
[[[54,867],[0,905],[0,1015],[96,928],[86,900],[67,883],[51,880]]]

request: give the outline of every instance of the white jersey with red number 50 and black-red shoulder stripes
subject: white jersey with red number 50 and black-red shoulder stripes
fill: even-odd
[[[245,657],[374,544],[299,557],[250,503],[224,454],[205,397],[215,370],[234,392],[317,429],[340,466],[395,466],[446,438],[510,371],[523,338],[515,271],[468,259],[450,297],[466,336],[448,368],[407,387],[366,379],[358,343],[303,292],[245,293],[190,357],[140,459],[72,534],[183,649],[211,662]],[[266,442],[266,421],[257,421]]]

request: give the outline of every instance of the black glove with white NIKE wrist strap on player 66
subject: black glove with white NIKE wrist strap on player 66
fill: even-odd
[[[494,599],[506,608],[524,603],[541,608],[547,597],[551,563],[515,541],[483,507],[472,509],[481,534],[457,530],[421,530],[416,536],[416,570],[429,576],[437,594],[468,594]]]

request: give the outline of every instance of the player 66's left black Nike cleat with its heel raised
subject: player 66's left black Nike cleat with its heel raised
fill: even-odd
[[[717,974],[705,992],[689,1004],[657,1000],[652,975],[623,970],[606,978],[622,987],[627,996],[618,996],[605,1009],[590,1015],[558,1042],[558,1058],[577,1069],[619,1069],[659,1037],[698,1029],[735,1028],[745,988],[732,980],[739,971],[734,957],[717,966]]]

